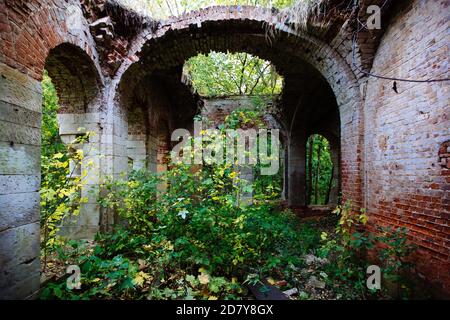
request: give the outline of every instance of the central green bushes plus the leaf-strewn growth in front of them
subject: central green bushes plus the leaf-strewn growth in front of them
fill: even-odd
[[[76,298],[236,299],[250,274],[299,266],[310,242],[300,238],[296,218],[269,204],[237,205],[233,173],[178,165],[106,184],[101,205],[117,210],[126,228],[99,236],[92,255],[78,261],[85,290]],[[52,288],[44,297],[56,294]]]

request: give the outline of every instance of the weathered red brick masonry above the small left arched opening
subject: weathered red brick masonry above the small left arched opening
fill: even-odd
[[[0,62],[41,79],[49,50],[64,42],[80,47],[95,61],[87,24],[83,22],[78,32],[68,30],[66,9],[72,4],[81,10],[74,0],[0,0]]]

